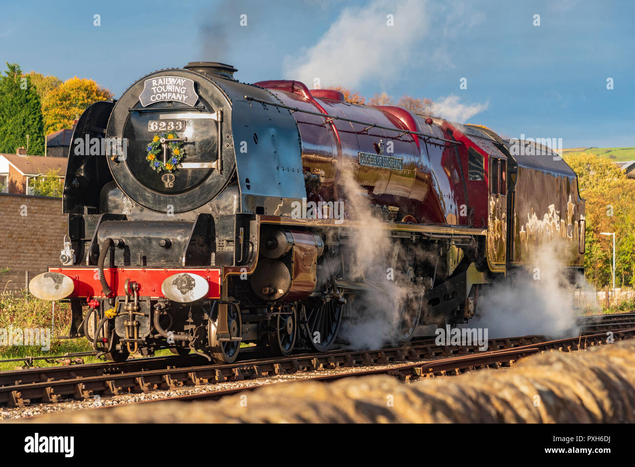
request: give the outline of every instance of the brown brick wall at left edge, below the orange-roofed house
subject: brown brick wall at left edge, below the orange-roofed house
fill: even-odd
[[[25,288],[47,266],[60,264],[60,250],[68,233],[68,214],[62,199],[0,194],[0,292]]]

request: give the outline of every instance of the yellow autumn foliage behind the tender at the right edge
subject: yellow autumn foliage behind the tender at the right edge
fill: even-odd
[[[577,173],[580,196],[586,199],[587,279],[598,287],[612,282],[612,237],[601,232],[615,232],[615,283],[635,285],[635,180],[596,155],[568,154],[565,161]]]

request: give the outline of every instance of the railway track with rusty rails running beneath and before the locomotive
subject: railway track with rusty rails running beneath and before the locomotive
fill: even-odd
[[[577,350],[579,346],[585,348],[605,341],[608,331],[613,332],[615,339],[635,336],[634,313],[609,315],[608,319],[600,317],[598,322],[593,322],[595,319],[596,317],[583,319],[586,326],[582,337],[546,342],[542,336],[490,339],[489,348],[493,349],[493,352],[479,352],[478,345],[438,346],[432,338],[412,341],[404,346],[372,351],[333,350],[326,353],[302,353],[279,358],[263,358],[262,352],[258,350],[244,350],[242,360],[233,364],[209,364],[204,358],[190,355],[138,358],[122,363],[107,362],[0,372],[0,405],[20,407],[37,402],[61,402],[67,398],[87,400],[96,395],[107,397],[123,393],[175,390],[184,386],[243,381],[262,376],[343,369],[359,365],[394,366],[399,364],[399,369],[371,369],[357,371],[354,374],[399,372],[403,379],[409,379],[420,377],[424,373],[436,374],[436,369],[446,371],[444,365],[455,365],[453,369],[462,369],[467,365],[465,368],[469,369],[509,362],[528,353],[539,352],[541,348],[548,348],[549,345],[566,345],[568,350]],[[419,363],[408,364],[408,362],[422,361],[434,362],[434,364],[430,363],[431,370],[421,370],[422,367],[417,366],[420,365]],[[350,373],[316,378],[344,376],[350,376]],[[214,391],[216,392],[218,397],[224,391]],[[194,397],[203,397],[203,395],[192,395],[192,398]],[[187,397],[184,400],[187,400]]]

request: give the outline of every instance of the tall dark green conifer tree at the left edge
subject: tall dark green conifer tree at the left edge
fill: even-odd
[[[0,77],[0,152],[15,154],[27,146],[29,154],[44,154],[41,102],[29,76],[22,76],[17,63],[6,63]]]

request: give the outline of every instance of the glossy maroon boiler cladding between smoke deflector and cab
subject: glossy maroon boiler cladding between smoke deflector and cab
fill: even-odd
[[[368,190],[373,204],[399,206],[398,220],[411,216],[417,223],[467,225],[467,216],[459,215],[460,206],[467,201],[454,148],[403,133],[416,131],[450,138],[439,124],[428,126],[424,119],[401,107],[352,105],[343,102],[339,91],[311,91],[298,81],[260,81],[256,85],[269,89],[289,107],[396,129],[368,128],[337,119],[325,122],[319,115],[293,113],[302,139],[302,166],[305,171],[324,171],[319,195],[327,201],[341,199],[340,171],[347,166],[353,168],[354,180]],[[380,141],[384,146],[392,143],[391,154],[380,151]],[[359,152],[403,159],[404,169],[361,165]]]

